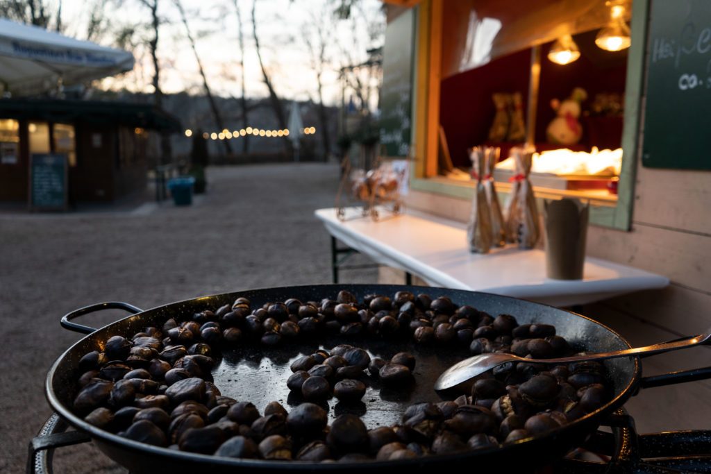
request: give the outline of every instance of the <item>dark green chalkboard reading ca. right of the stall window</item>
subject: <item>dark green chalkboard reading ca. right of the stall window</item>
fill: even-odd
[[[711,1],[653,0],[642,164],[711,169]]]

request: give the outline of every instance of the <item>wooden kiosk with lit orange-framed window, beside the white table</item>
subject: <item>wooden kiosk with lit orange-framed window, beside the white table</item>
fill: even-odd
[[[444,129],[454,166],[466,167],[466,147],[486,144],[494,92],[523,93],[527,141],[539,149],[547,145],[545,129],[553,118],[550,99],[565,98],[578,86],[587,87],[589,99],[602,92],[621,94],[621,115],[598,124],[597,136],[590,133],[596,126],[582,120],[587,133],[578,144],[583,151],[592,146],[621,147],[616,193],[534,183],[535,196],[540,204],[544,198],[566,195],[589,201],[589,257],[670,278],[670,286],[663,290],[587,305],[587,316],[623,330],[633,343],[641,344],[696,334],[711,325],[707,311],[711,306],[709,2],[386,0],[385,4],[388,28],[408,14],[413,26],[408,154],[415,164],[406,208],[468,220],[474,186],[442,172],[439,129]],[[631,45],[618,52],[602,50],[595,41],[608,26],[609,10],[616,4],[624,6]],[[603,15],[598,17],[597,11]],[[468,35],[473,26],[485,23],[496,30],[479,31],[479,38],[490,40],[490,48],[474,48],[479,53],[472,55]],[[580,56],[567,65],[552,63],[548,53],[566,35],[577,43]],[[469,67],[466,58],[479,63]],[[387,80],[387,54],[383,60]],[[591,110],[591,102],[583,102],[582,107]],[[389,113],[383,110],[384,117]],[[506,200],[507,183],[497,183],[497,188]],[[399,282],[402,275],[385,268],[380,279]],[[708,352],[699,351],[702,362],[680,357],[679,368],[711,365]],[[675,397],[675,403],[695,406],[697,412],[711,410],[707,385],[675,389],[669,396]],[[656,411],[656,400],[639,403],[640,409]],[[692,417],[677,419],[675,424],[706,427]]]

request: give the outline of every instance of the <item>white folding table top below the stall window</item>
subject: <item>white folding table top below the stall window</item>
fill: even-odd
[[[412,211],[378,222],[360,217],[357,209],[347,209],[345,221],[338,220],[335,208],[315,214],[331,237],[378,264],[415,274],[430,286],[577,306],[669,284],[665,276],[593,257],[585,259],[582,280],[548,279],[542,250],[507,246],[472,254],[465,225]]]

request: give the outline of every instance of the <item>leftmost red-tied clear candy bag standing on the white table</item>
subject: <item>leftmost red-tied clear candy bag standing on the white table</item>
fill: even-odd
[[[472,164],[472,176],[476,179],[474,198],[471,201],[469,225],[466,227],[466,239],[469,251],[486,254],[491,249],[491,213],[486,200],[486,190],[482,178],[486,170],[486,157],[481,146],[475,146],[469,152]]]

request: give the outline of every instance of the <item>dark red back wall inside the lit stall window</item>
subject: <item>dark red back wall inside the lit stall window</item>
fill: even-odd
[[[542,45],[540,90],[536,109],[537,144],[545,143],[545,129],[555,117],[555,111],[550,107],[551,99],[565,99],[574,87],[583,87],[588,94],[587,101],[583,103],[585,110],[599,92],[624,93],[626,52],[610,53],[597,48],[594,44],[596,33],[597,31],[592,31],[574,36],[581,56],[568,65],[557,65],[547,60],[546,55],[552,43]],[[494,92],[519,91],[523,94],[524,109],[527,107],[530,55],[530,49],[523,50],[442,80],[439,121],[447,136],[454,166],[469,166],[466,149],[486,141],[495,112],[491,100]],[[609,119],[606,122],[608,123],[604,124],[602,139],[604,143],[589,143],[584,127],[580,141],[584,149],[589,149],[590,146],[619,146],[621,118]]]

